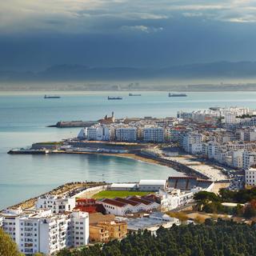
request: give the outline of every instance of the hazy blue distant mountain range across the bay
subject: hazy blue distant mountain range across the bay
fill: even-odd
[[[149,78],[256,78],[256,62],[211,62],[164,68],[90,67],[63,64],[42,72],[0,70],[0,82],[104,81]]]

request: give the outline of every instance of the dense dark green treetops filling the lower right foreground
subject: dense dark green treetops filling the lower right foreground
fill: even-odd
[[[205,224],[160,228],[130,233],[121,242],[79,250],[62,250],[58,256],[250,256],[256,255],[256,229],[236,222],[206,219]]]

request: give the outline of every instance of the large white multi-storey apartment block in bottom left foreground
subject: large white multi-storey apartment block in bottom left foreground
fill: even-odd
[[[22,254],[51,255],[65,247],[84,246],[89,242],[88,213],[6,210],[1,217],[2,229],[10,234]]]

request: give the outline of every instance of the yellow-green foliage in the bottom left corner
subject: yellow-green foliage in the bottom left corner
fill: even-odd
[[[0,228],[0,256],[21,256],[16,243]]]

